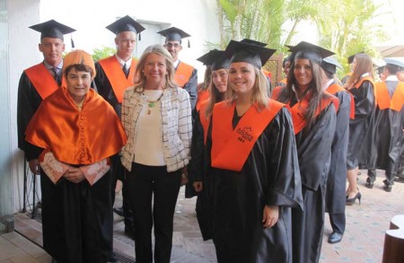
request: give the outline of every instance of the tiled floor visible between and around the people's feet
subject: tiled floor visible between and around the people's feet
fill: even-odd
[[[331,228],[326,215],[320,262],[382,262],[384,232],[389,229],[394,215],[404,215],[404,184],[396,183],[392,192],[387,193],[382,189],[382,171],[378,174],[381,176],[373,189],[364,188],[365,175],[359,177],[362,203],[347,206],[347,230],[343,240],[334,245],[327,242]],[[181,188],[174,219],[171,262],[215,262],[212,241],[202,241],[198,230],[195,198],[185,199],[183,191]],[[34,242],[42,243],[40,224],[28,216],[16,215],[15,228]],[[134,243],[123,234],[123,230],[122,218],[116,215],[114,248],[134,258]],[[17,232],[11,232],[0,236],[0,263],[5,262],[50,262],[50,258],[39,246]]]

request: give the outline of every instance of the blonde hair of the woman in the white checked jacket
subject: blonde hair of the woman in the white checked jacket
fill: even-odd
[[[167,51],[166,48],[162,47],[162,45],[152,45],[145,48],[142,56],[139,58],[136,64],[136,72],[135,72],[135,92],[143,92],[144,91],[144,83],[145,83],[145,62],[146,58],[150,54],[157,54],[165,58],[165,64],[167,66],[167,75],[165,75],[165,88],[175,88],[178,86],[174,81],[174,65],[172,64],[171,54]]]

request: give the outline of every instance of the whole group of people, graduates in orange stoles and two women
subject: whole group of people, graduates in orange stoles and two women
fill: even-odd
[[[275,49],[231,40],[198,58],[198,84],[179,59],[189,34],[178,28],[158,32],[164,45],[136,60],[145,28],[125,16],[107,26],[117,53],[95,62],[82,50],[62,58],[74,29],[53,20],[31,29],[44,60],[19,83],[19,148],[41,175],[44,249],[55,262],[116,262],[112,211],[125,218],[136,262],[170,262],[182,185],[198,196],[218,262],[318,262],[325,213],[337,243],[345,206],[360,204],[359,168],[367,188],[376,169],[386,191],[404,181],[399,58],[386,58],[375,82],[371,57],[356,54],[340,82],[335,54],[302,41],[274,82],[262,67]],[[113,210],[117,180],[123,206]]]

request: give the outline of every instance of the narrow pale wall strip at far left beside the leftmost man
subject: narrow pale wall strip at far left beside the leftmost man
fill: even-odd
[[[40,0],[13,0],[7,2],[9,39],[9,100],[11,129],[11,172],[13,177],[13,206],[15,212],[22,209],[23,153],[17,147],[17,91],[22,70],[39,63],[39,35],[27,30],[40,22]]]

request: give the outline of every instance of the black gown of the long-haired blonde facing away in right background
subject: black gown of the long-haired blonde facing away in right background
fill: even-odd
[[[358,166],[358,160],[368,163],[372,151],[372,119],[374,114],[373,83],[364,81],[358,88],[349,90],[355,100],[355,119],[349,120],[349,142],[347,150],[347,169],[353,170]],[[370,134],[369,134],[370,133]],[[367,139],[366,139],[367,137]]]

